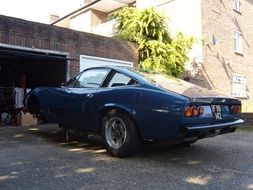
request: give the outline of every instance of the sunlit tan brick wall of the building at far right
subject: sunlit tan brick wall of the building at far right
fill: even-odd
[[[232,0],[203,0],[202,84],[231,95],[232,73],[247,77],[248,100],[253,105],[253,1],[241,0],[241,13]],[[243,55],[234,52],[234,31],[243,35]],[[213,43],[213,38],[216,44]]]

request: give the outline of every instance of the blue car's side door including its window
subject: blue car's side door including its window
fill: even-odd
[[[96,94],[109,73],[107,68],[92,68],[84,71],[74,86],[66,86],[65,106],[68,123],[88,128],[90,116],[95,109]]]

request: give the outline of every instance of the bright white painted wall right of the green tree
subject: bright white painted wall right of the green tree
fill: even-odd
[[[201,0],[137,0],[137,8],[153,6],[168,18],[172,35],[182,32],[193,36],[194,44],[189,56],[190,59],[202,62],[202,24]]]

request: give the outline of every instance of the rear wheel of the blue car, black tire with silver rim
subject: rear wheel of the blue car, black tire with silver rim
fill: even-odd
[[[107,152],[115,157],[132,156],[142,145],[133,120],[119,110],[110,110],[103,118],[102,138]]]

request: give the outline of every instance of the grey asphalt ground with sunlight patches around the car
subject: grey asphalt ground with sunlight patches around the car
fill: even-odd
[[[53,126],[1,127],[0,189],[253,189],[253,132],[148,145],[126,159],[91,141],[65,143]]]

